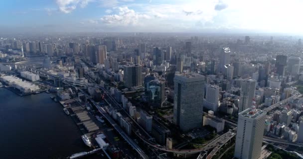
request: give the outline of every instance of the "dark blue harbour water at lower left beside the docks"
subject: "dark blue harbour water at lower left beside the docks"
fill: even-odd
[[[0,88],[0,158],[65,159],[89,151],[52,94],[18,96]]]

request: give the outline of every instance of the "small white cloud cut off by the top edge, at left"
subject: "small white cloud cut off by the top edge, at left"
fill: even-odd
[[[90,1],[93,0],[56,0],[59,10],[63,13],[70,13],[77,8],[85,7]]]

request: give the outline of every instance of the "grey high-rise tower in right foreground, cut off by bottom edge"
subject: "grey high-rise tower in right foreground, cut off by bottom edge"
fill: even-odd
[[[248,108],[239,113],[235,158],[260,158],[265,118],[266,111],[255,108]]]

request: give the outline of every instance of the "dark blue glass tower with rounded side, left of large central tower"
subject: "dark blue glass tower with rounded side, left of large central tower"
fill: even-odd
[[[162,107],[165,100],[165,80],[152,80],[146,90],[148,102],[151,106]]]

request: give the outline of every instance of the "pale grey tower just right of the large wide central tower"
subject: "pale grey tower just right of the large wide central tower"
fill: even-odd
[[[204,99],[203,107],[214,112],[218,111],[219,89],[218,85],[210,85],[206,88],[206,98]]]

